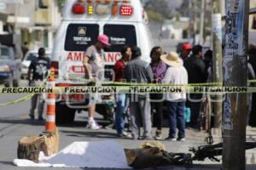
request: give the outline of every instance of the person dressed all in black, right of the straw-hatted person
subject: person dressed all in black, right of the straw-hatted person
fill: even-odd
[[[192,55],[185,59],[184,67],[189,74],[189,83],[204,83],[207,81],[206,65],[202,60],[202,47],[196,45],[192,48]],[[202,94],[189,94],[188,106],[191,110],[190,127],[199,127],[198,117],[201,107]]]

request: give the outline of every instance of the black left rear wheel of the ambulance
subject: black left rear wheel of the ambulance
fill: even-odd
[[[55,104],[55,123],[71,124],[74,122],[75,110],[67,107],[67,105],[61,105],[60,103]]]

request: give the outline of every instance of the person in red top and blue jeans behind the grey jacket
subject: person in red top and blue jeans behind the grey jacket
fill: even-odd
[[[114,81],[123,82],[123,74],[125,65],[131,60],[131,48],[125,46],[121,50],[122,58],[113,66]],[[129,137],[125,133],[125,112],[128,111],[129,99],[127,94],[116,94],[116,112],[115,112],[115,128],[119,137]]]

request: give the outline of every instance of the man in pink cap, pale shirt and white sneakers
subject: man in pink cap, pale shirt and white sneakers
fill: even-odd
[[[84,67],[85,67],[85,77],[88,79],[103,80],[104,79],[104,50],[107,46],[110,46],[108,42],[109,38],[106,35],[99,35],[97,37],[97,42],[86,49],[84,53]],[[98,85],[98,82],[92,83],[90,85]],[[99,129],[94,120],[96,112],[96,101],[100,98],[97,94],[90,95],[89,108],[88,108],[88,127],[94,130]]]

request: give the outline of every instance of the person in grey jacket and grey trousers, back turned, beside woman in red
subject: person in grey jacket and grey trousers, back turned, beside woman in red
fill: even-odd
[[[150,65],[140,57],[141,49],[132,48],[131,61],[125,67],[125,80],[127,82],[151,83],[153,72]],[[151,113],[148,94],[132,94],[130,98],[131,135],[133,139],[152,139]],[[143,136],[140,137],[140,127],[143,122]]]

